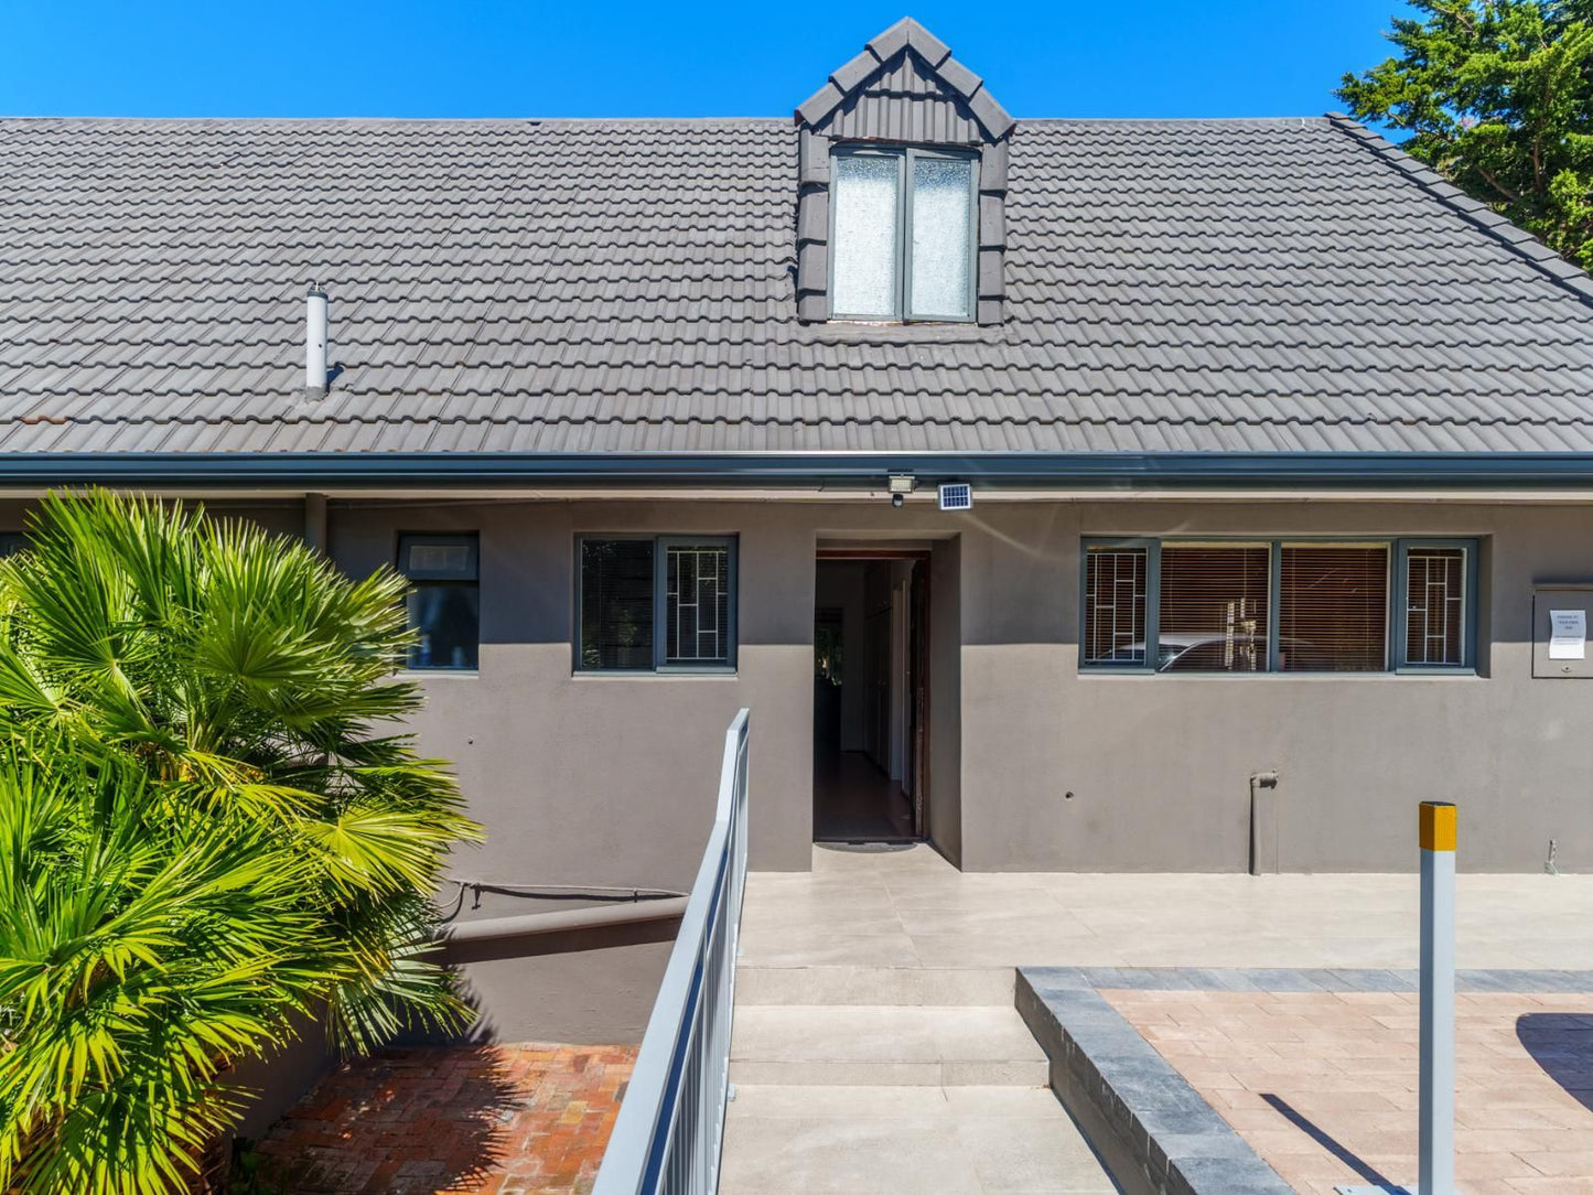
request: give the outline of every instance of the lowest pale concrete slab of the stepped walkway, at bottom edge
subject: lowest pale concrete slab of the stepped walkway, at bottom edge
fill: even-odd
[[[1112,1195],[1039,1087],[738,1085],[722,1195]]]

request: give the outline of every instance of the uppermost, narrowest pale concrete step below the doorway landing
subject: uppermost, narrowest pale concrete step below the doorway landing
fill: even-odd
[[[765,967],[736,969],[736,1007],[768,1004],[1013,1004],[1012,967]]]

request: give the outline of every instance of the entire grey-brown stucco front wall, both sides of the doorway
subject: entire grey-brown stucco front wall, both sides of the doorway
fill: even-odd
[[[398,531],[476,529],[481,672],[424,679],[429,750],[459,762],[492,841],[472,878],[683,886],[714,754],[753,709],[753,865],[811,841],[817,542],[933,539],[932,835],[970,870],[1243,870],[1249,776],[1276,768],[1286,870],[1413,864],[1411,806],[1462,805],[1462,867],[1593,857],[1593,684],[1532,680],[1534,582],[1593,578],[1593,521],[1556,505],[983,502],[333,503],[350,572]],[[577,532],[741,537],[736,677],[573,676]],[[1078,543],[1112,534],[1477,535],[1481,676],[1109,677],[1077,666]],[[1067,800],[1064,793],[1072,792]]]

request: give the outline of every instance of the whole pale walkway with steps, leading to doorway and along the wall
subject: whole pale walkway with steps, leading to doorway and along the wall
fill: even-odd
[[[964,875],[814,849],[747,881],[726,1195],[1110,1192],[1020,966],[1413,967],[1415,875]],[[1461,876],[1459,966],[1590,969],[1593,878]]]

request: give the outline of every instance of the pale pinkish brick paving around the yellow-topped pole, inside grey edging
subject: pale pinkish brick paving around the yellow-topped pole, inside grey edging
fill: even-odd
[[[1290,1184],[1416,1181],[1413,993],[1101,993]],[[1593,1195],[1593,993],[1456,1004],[1456,1182]]]

